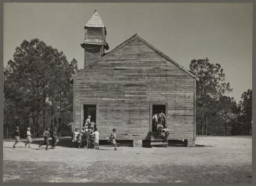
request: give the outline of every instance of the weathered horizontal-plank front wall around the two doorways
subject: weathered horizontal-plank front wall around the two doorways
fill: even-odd
[[[194,79],[135,38],[75,77],[75,125],[81,102],[97,102],[100,139],[149,138],[150,102],[168,103],[169,139],[194,139]],[[126,135],[122,135],[126,134]]]

